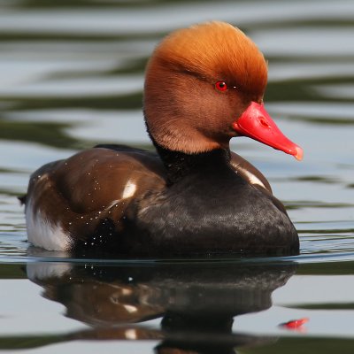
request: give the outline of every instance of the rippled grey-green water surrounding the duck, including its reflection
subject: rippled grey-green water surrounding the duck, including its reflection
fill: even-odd
[[[0,3],[0,349],[352,353],[354,3]],[[222,19],[269,60],[266,107],[304,161],[239,138],[301,239],[291,258],[73,259],[28,248],[29,173],[99,142],[149,147],[143,68],[177,27]],[[309,318],[299,330],[280,324]]]

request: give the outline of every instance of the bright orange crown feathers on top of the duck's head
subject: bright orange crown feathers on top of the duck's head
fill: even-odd
[[[205,78],[234,81],[236,87],[263,93],[267,65],[263,54],[243,32],[225,22],[208,22],[165,37],[154,57]]]

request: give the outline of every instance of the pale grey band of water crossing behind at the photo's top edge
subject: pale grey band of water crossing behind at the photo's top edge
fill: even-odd
[[[181,4],[159,4],[156,6],[135,7],[130,9],[101,7],[78,9],[35,9],[3,11],[0,14],[0,30],[13,33],[50,33],[50,34],[140,34],[170,31],[176,27],[210,20],[228,20],[240,25],[284,24],[291,20],[299,22],[313,19],[349,19],[354,15],[349,1],[300,1],[296,3],[269,1],[264,2],[218,2],[189,4],[188,10]],[[92,24],[95,23],[95,26]],[[298,29],[298,28],[297,28]],[[283,31],[281,31],[283,32]],[[329,37],[332,39],[333,37]],[[298,43],[298,42],[297,42]],[[311,48],[312,49],[312,48]],[[287,49],[285,49],[287,50]]]

